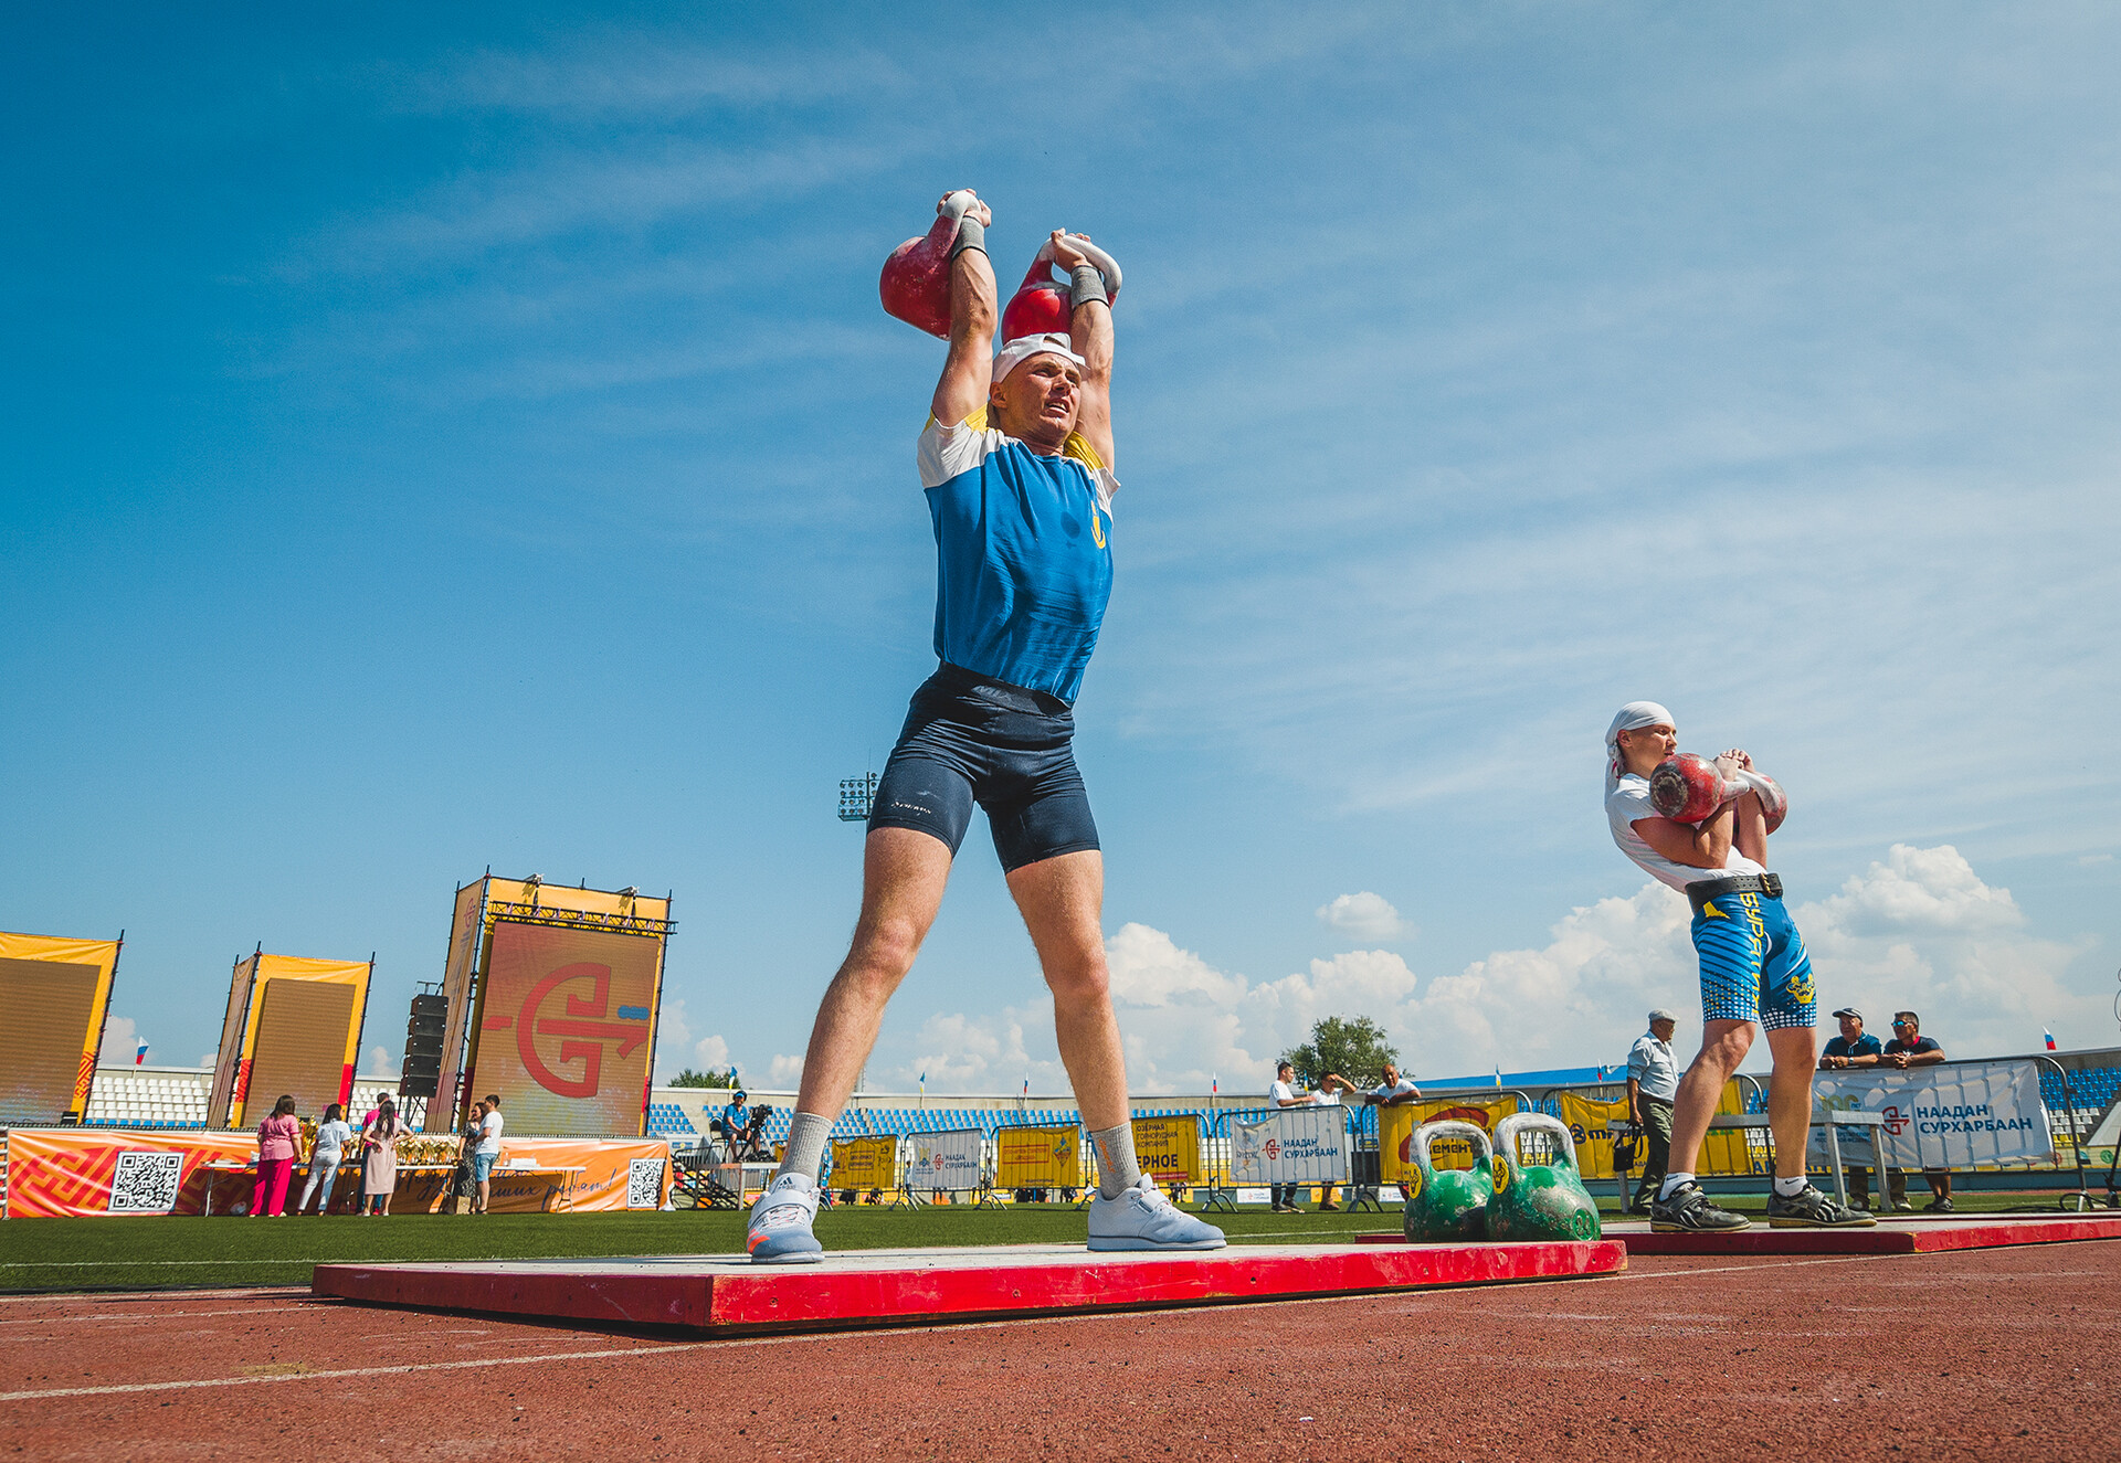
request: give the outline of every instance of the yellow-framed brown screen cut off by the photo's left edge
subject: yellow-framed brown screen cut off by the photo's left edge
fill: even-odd
[[[0,1126],[59,1122],[89,1109],[95,1047],[119,967],[115,939],[0,931]]]

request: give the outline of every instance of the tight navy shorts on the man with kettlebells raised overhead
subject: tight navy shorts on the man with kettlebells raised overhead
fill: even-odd
[[[870,831],[914,829],[957,854],[980,804],[1010,874],[1097,848],[1073,740],[1067,702],[944,664],[914,691],[876,782]]]

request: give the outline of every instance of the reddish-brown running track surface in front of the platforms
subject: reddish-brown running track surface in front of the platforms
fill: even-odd
[[[0,1459],[2110,1459],[2121,1245],[662,1340],[312,1300],[0,1300]]]

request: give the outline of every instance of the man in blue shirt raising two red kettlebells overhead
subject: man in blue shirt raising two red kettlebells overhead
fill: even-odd
[[[1054,259],[1071,276],[1069,335],[1003,341],[997,354],[991,223],[976,201],[950,250],[950,354],[918,450],[942,666],[914,691],[876,787],[861,918],[810,1030],[781,1170],[751,1209],[753,1262],[821,1255],[825,1139],[935,922],[974,804],[1037,948],[1094,1145],[1090,1249],[1224,1242],[1135,1162],[1101,927],[1105,863],[1071,751],[1071,706],[1111,596],[1111,303],[1099,269],[1054,229]]]

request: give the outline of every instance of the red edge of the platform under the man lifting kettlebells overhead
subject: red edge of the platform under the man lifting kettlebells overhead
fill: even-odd
[[[1593,1240],[1319,1249],[1302,1255],[1247,1255],[1245,1247],[1237,1247],[1156,1259],[1111,1262],[1086,1255],[1071,1262],[904,1270],[316,1266],[310,1289],[316,1295],[422,1310],[479,1310],[704,1332],[808,1332],[1559,1281],[1625,1268],[1625,1245]]]

